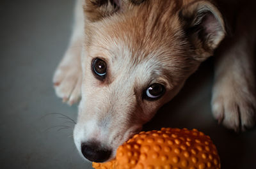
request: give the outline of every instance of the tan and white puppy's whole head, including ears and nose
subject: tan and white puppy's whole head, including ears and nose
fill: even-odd
[[[179,92],[225,30],[218,10],[205,1],[97,3],[84,6],[82,99],[74,140],[85,158],[104,162]]]

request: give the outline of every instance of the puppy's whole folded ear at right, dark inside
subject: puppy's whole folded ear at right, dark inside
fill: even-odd
[[[211,56],[225,37],[225,24],[220,11],[209,1],[196,1],[180,10],[184,32],[199,61]]]

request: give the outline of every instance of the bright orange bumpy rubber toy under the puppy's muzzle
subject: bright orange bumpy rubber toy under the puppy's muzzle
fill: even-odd
[[[220,169],[209,136],[193,129],[142,131],[118,147],[116,159],[93,163],[95,169]]]

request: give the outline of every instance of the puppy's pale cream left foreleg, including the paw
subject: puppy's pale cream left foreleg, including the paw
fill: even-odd
[[[57,96],[70,105],[79,101],[81,97],[81,52],[84,38],[83,4],[84,0],[77,0],[74,30],[70,45],[53,77]]]

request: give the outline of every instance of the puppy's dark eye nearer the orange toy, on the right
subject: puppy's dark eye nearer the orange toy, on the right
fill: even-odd
[[[152,84],[148,87],[145,95],[147,99],[158,99],[164,94],[164,86],[161,84]]]

